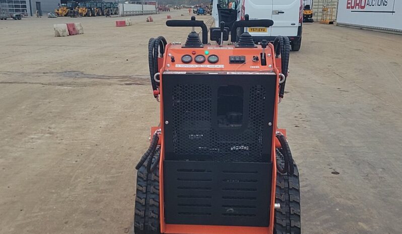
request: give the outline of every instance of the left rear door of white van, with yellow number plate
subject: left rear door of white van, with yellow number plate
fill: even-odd
[[[243,0],[241,6],[241,20],[243,16],[248,14],[250,20],[271,20],[273,11],[273,1],[275,0]],[[283,1],[283,0],[276,0]],[[299,0],[300,1],[300,0]],[[244,14],[243,14],[244,11]],[[276,22],[274,21],[274,26]],[[271,36],[270,28],[248,28],[248,32],[253,37],[269,37]]]

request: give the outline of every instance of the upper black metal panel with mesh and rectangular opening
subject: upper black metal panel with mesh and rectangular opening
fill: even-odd
[[[162,85],[165,159],[271,161],[275,75],[163,74]]]

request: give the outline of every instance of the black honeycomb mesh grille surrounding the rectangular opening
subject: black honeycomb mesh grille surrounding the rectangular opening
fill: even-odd
[[[206,84],[177,84],[173,88],[173,150],[177,155],[205,155],[218,162],[260,162],[266,90],[254,85],[249,92],[246,128],[240,133],[215,130],[212,89]]]

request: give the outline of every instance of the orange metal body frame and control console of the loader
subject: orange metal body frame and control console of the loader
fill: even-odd
[[[165,148],[164,148],[164,116],[163,116],[163,72],[165,71],[174,71],[174,72],[185,72],[185,71],[208,71],[208,72],[274,72],[277,74],[277,87],[279,87],[279,74],[281,73],[281,59],[275,58],[274,46],[273,44],[269,43],[267,48],[265,49],[266,54],[270,54],[270,57],[266,57],[267,66],[261,66],[260,61],[253,62],[253,56],[260,56],[262,52],[262,48],[257,46],[256,48],[235,48],[234,46],[205,46],[204,48],[182,48],[180,45],[172,45],[168,44],[165,49],[165,57],[159,58],[159,71],[160,71],[160,86],[159,86],[159,93],[160,93],[160,112],[161,112],[161,127],[152,127],[151,134],[155,132],[157,129],[162,130],[162,134],[160,137],[159,144],[161,145],[161,160],[159,165],[159,196],[160,196],[160,224],[161,224],[161,233],[176,233],[176,234],[272,234],[274,229],[274,203],[275,203],[275,191],[276,191],[276,174],[277,168],[276,163],[273,163],[273,170],[272,170],[272,188],[271,188],[271,215],[270,215],[270,226],[267,227],[253,227],[253,226],[218,226],[218,225],[185,225],[185,224],[168,224],[165,223],[165,216],[164,216],[164,188],[163,188],[163,161],[165,155]],[[209,52],[206,55],[206,51]],[[194,61],[188,63],[189,65],[195,65],[191,68],[188,67],[176,67],[176,64],[183,64],[181,62],[181,56],[188,54],[192,57],[196,55],[204,55],[206,58],[209,55],[217,55],[219,56],[220,60],[215,63],[218,65],[224,65],[223,67],[200,67],[197,66],[199,64],[195,63]],[[242,55],[246,56],[246,63],[244,64],[230,64],[229,63],[229,56],[231,55]],[[171,61],[171,56],[175,57],[175,62]],[[163,62],[162,62],[163,60]],[[206,61],[203,64],[210,64]],[[270,68],[269,65],[272,65]],[[279,89],[276,89],[276,98],[275,103],[278,103],[279,96],[278,96]],[[275,137],[276,132],[279,131],[283,135],[286,136],[286,130],[284,129],[277,129],[277,116],[278,116],[278,105],[275,105],[274,110],[274,131],[272,136],[272,145],[273,146],[280,146],[279,141]],[[275,147],[272,148],[272,162],[276,162],[276,152]]]

